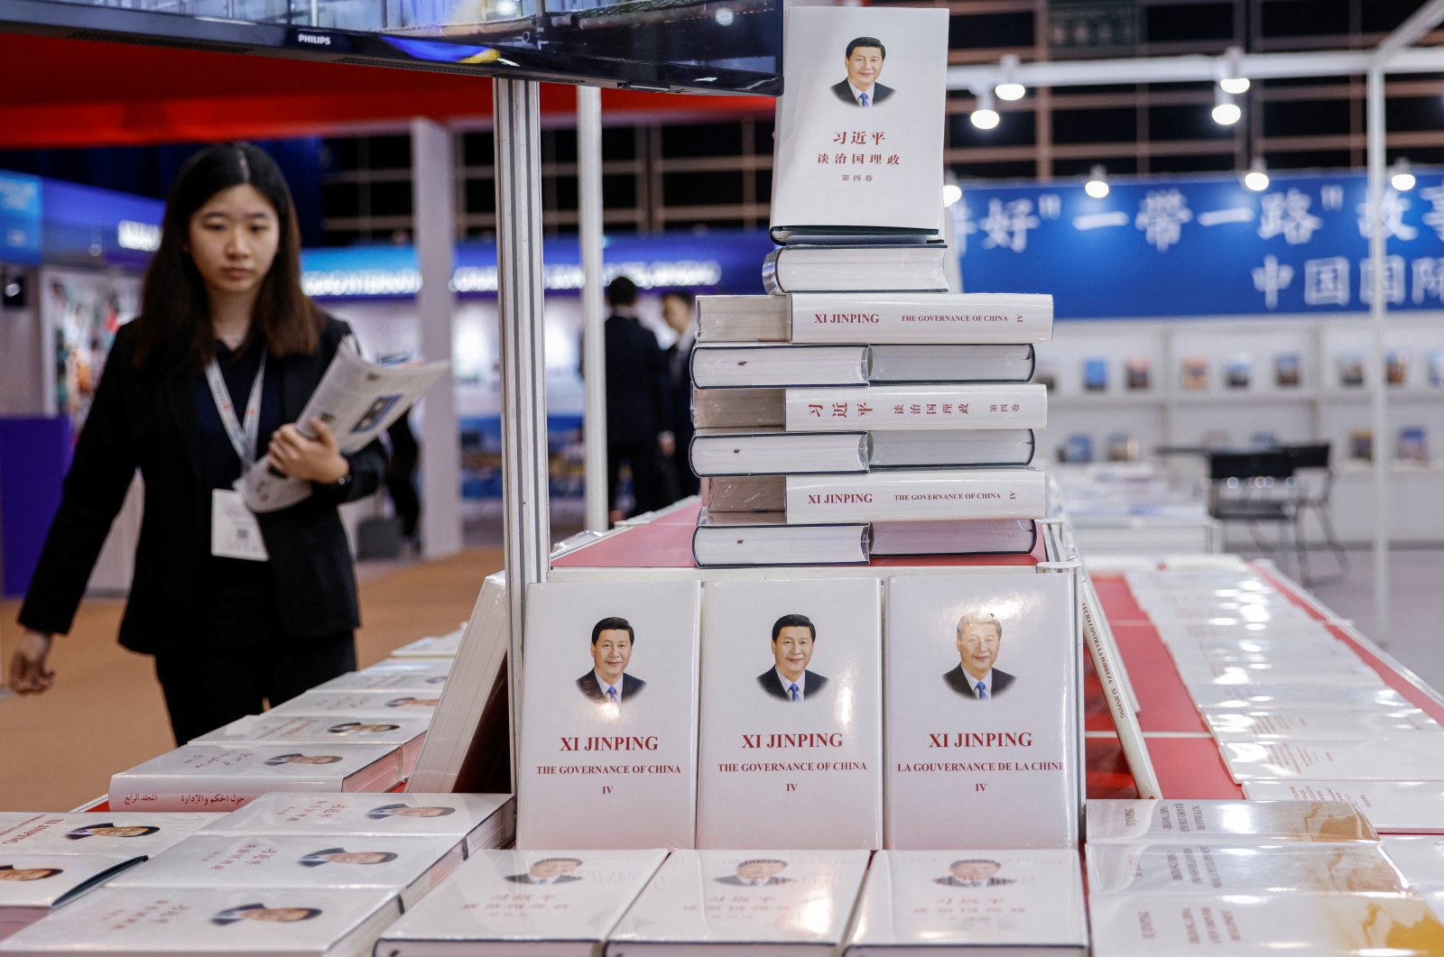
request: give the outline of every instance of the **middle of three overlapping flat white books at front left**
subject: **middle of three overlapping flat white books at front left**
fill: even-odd
[[[113,888],[361,888],[410,908],[462,862],[455,837],[375,834],[196,834]]]

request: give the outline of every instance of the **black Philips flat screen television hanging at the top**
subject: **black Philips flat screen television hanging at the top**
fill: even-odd
[[[3,0],[0,29],[630,89],[783,91],[783,0]]]

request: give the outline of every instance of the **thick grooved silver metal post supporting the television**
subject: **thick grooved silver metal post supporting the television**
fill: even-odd
[[[542,114],[537,84],[497,79],[497,302],[501,325],[501,502],[511,612],[510,671],[520,691],[527,587],[546,580],[546,362],[542,328]],[[517,702],[517,697],[513,697]],[[523,716],[524,717],[524,716]],[[513,764],[517,725],[513,725]],[[516,778],[513,778],[516,779]]]

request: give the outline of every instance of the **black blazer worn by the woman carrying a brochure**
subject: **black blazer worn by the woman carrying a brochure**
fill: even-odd
[[[351,328],[326,318],[310,355],[267,362],[280,374],[282,421],[296,421]],[[211,494],[201,488],[195,396],[201,371],[137,370],[134,326],[116,333],[75,458],[62,485],[20,624],[66,632],[75,619],[111,521],[140,469],[146,482],[136,573],[120,622],[120,644],[155,654],[204,642],[201,569],[211,553]],[[261,436],[260,446],[266,447]],[[386,449],[373,442],[348,455],[351,482],[318,485],[290,508],[257,515],[276,580],[276,611],[289,635],[335,635],[361,624],[355,566],[336,505],[374,492]]]

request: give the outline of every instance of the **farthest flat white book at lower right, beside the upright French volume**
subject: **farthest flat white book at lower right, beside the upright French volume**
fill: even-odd
[[[1343,801],[1090,800],[1087,843],[1248,844],[1259,842],[1376,842]]]

